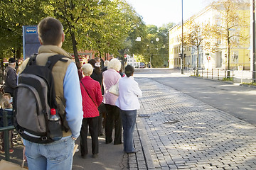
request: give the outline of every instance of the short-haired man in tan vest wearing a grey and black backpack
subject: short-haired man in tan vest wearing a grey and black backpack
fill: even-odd
[[[25,86],[23,84],[26,84],[26,76],[24,75],[24,72],[27,72],[27,68],[33,64],[33,61],[29,59],[23,62],[21,72],[18,77],[18,88],[16,94],[14,94],[15,126],[18,128],[18,132],[21,134],[21,137],[23,137],[23,143],[26,147],[25,155],[28,161],[28,169],[72,169],[73,148],[75,146],[75,140],[80,134],[83,114],[78,70],[75,63],[72,61],[71,56],[68,55],[68,52],[65,52],[65,50],[61,48],[64,42],[64,33],[63,25],[60,21],[51,17],[44,18],[38,24],[38,38],[41,42],[41,47],[38,49],[38,55],[34,58],[36,66],[46,66],[52,56],[60,57],[60,59],[58,59],[50,69],[53,75],[57,107],[54,106],[51,108],[50,113],[48,113],[48,107],[46,110],[42,111],[42,115],[47,119],[47,116],[49,117],[52,109],[54,109],[54,112],[55,109],[56,112],[58,110],[58,115],[63,127],[63,134],[60,140],[53,140],[50,139],[50,135],[46,135],[48,132],[44,132],[42,134],[45,134],[45,137],[38,135],[38,139],[36,139],[37,136],[33,135],[29,126],[28,128],[24,128],[26,127],[26,124],[30,123],[30,119],[31,123],[34,120],[29,118],[32,113],[29,113],[31,115],[27,115],[27,118],[22,118],[20,115],[26,113],[22,113],[21,109],[19,109],[23,107],[19,95],[21,96],[22,91],[26,89],[23,88],[22,90],[19,90]],[[33,95],[31,95],[31,97],[33,97]],[[39,97],[41,97],[40,93]],[[40,103],[31,102],[30,106],[28,106],[29,102],[24,101],[23,105],[27,108],[33,108],[39,106]],[[36,108],[36,110],[39,110],[39,108]],[[38,117],[41,116],[41,113],[37,114]],[[48,122],[45,123],[45,125],[47,130]]]

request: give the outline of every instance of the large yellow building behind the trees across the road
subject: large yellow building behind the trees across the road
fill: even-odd
[[[223,9],[223,6],[222,6]],[[183,23],[183,40],[191,32],[189,23],[193,22],[201,27],[217,26],[221,28],[225,24],[223,10],[220,11],[213,6],[207,6],[201,12],[188,18]],[[234,23],[234,27],[229,30],[230,40],[230,69],[250,69],[250,8],[249,6],[240,6],[235,10],[235,14],[240,18],[239,25]],[[201,28],[203,30],[203,28]],[[210,33],[209,33],[210,34]],[[239,36],[237,36],[239,35]],[[231,38],[232,37],[232,38]],[[242,37],[242,38],[241,38]],[[196,67],[197,56],[199,68],[202,69],[228,69],[228,45],[225,36],[211,36],[204,40],[199,50],[195,46],[189,45],[183,47],[184,67]],[[206,42],[214,45],[214,50],[207,50]],[[181,23],[177,24],[169,30],[169,68],[181,68],[181,58],[178,54],[181,53]]]

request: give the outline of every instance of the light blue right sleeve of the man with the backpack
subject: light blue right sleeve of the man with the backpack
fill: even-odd
[[[80,135],[82,125],[82,95],[78,78],[78,69],[75,63],[70,63],[64,77],[64,98],[66,101],[66,120],[72,132],[77,138]]]

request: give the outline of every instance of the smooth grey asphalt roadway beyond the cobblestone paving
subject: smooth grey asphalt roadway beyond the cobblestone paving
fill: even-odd
[[[148,77],[256,126],[256,88],[188,77],[174,69],[136,69],[134,77]]]

